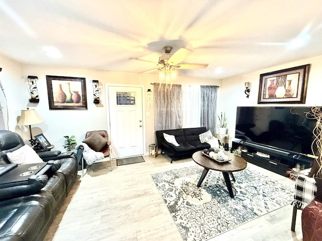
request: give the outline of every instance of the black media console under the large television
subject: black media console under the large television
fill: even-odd
[[[277,174],[287,176],[286,171],[300,164],[303,169],[309,168],[313,158],[306,155],[293,154],[289,151],[279,150],[246,141],[232,141],[231,150],[241,148],[241,157],[247,162],[265,168]]]

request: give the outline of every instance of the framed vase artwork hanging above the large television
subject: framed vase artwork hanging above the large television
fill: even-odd
[[[305,104],[310,64],[260,75],[259,104]]]

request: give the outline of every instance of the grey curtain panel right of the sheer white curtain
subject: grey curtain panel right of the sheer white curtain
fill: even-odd
[[[216,135],[217,90],[218,86],[214,85],[200,86],[200,125],[210,130],[213,135]]]

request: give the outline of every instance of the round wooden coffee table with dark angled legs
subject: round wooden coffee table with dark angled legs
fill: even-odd
[[[231,159],[231,161],[225,162],[225,163],[219,163],[202,155],[201,154],[202,152],[203,151],[195,152],[192,155],[192,159],[194,160],[194,162],[204,168],[204,170],[202,171],[201,177],[199,179],[199,182],[197,184],[197,187],[200,187],[201,183],[205,179],[209,170],[219,171],[219,172],[222,172],[223,178],[225,180],[225,183],[229,192],[229,196],[233,198],[234,194],[232,191],[229,175],[231,176],[232,180],[235,181],[235,178],[232,175],[232,172],[244,170],[247,167],[247,162],[244,160],[244,158],[238,157],[230,152],[225,152],[225,155],[227,155],[229,159]]]

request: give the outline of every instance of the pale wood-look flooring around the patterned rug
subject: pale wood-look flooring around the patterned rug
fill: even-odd
[[[77,179],[56,215],[44,240],[183,240],[151,174],[195,164],[192,159],[174,161],[164,155],[144,156],[145,162],[116,166],[94,163]],[[280,182],[294,181],[248,163]],[[271,241],[302,240],[301,211],[291,231],[291,205],[282,207],[209,240]]]

